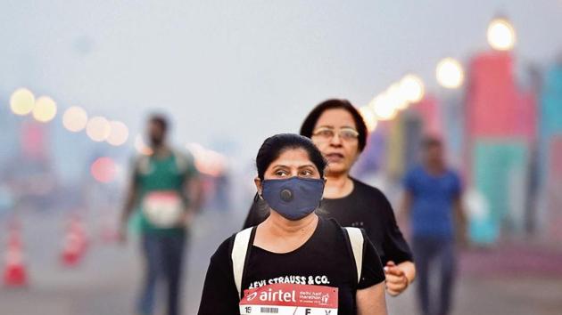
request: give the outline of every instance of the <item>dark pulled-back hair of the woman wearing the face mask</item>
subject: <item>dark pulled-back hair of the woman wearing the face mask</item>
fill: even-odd
[[[258,177],[263,181],[264,174],[271,162],[275,161],[287,149],[304,149],[310,161],[318,168],[320,177],[324,177],[326,159],[309,138],[295,133],[280,133],[263,141],[256,157]]]

